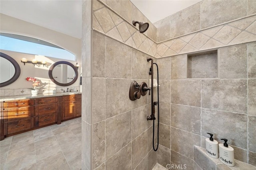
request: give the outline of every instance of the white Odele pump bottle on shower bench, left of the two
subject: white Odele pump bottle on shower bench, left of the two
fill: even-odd
[[[219,157],[218,142],[212,138],[213,136],[212,133],[208,133],[208,134],[211,137],[205,139],[206,153],[213,158],[218,158]]]

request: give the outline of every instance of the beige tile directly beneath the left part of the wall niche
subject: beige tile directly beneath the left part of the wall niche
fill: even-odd
[[[172,103],[201,106],[200,80],[172,80],[171,84]]]

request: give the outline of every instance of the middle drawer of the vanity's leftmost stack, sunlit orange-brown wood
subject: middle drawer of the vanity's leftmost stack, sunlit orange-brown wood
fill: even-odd
[[[4,109],[4,122],[13,121],[20,118],[32,117],[33,116],[34,107],[12,107],[8,109]]]

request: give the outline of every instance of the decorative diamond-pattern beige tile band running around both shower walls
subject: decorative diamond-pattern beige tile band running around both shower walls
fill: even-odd
[[[92,4],[92,27],[155,58],[256,41],[256,14],[156,43],[101,0]]]

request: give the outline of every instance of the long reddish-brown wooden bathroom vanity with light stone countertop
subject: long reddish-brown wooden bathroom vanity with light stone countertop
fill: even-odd
[[[81,100],[77,92],[0,99],[0,140],[80,117]]]

